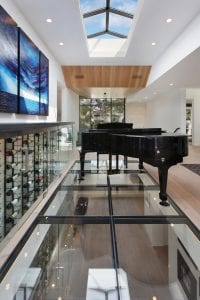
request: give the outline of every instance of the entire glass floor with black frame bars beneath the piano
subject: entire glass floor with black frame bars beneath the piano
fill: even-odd
[[[200,299],[200,234],[132,161],[77,162],[0,273],[0,299]],[[17,253],[17,254],[16,254]]]

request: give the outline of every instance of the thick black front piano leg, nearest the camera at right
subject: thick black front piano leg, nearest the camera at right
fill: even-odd
[[[159,183],[160,183],[159,197],[161,199],[160,205],[163,206],[169,206],[169,203],[167,202],[167,193],[166,193],[168,169],[169,167],[166,165],[158,167]]]

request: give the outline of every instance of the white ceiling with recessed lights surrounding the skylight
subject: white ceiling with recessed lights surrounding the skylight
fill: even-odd
[[[154,65],[200,13],[200,0],[139,0],[126,56],[96,58],[88,54],[79,0],[12,1],[61,65]],[[173,22],[167,24],[165,20],[169,17]],[[46,23],[47,18],[52,18],[53,22]],[[64,43],[62,47],[59,46],[61,41]],[[151,45],[154,41],[156,46]],[[199,51],[194,51],[185,62],[180,62],[170,73],[167,72],[154,82],[157,86],[153,86],[150,93],[161,89],[165,85],[164,81],[169,80],[167,76],[173,76],[177,86],[200,87],[200,70],[198,68],[197,77],[191,67],[191,62],[194,67],[199,64],[199,58]],[[180,71],[184,76],[180,77]],[[182,82],[178,82],[180,80]],[[142,93],[148,93],[149,88]]]

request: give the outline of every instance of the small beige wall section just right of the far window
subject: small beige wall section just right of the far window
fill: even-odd
[[[146,103],[126,103],[126,122],[136,128],[146,127]]]

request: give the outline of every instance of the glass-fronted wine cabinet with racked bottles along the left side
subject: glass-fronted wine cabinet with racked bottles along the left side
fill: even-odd
[[[0,241],[62,172],[73,123],[0,125]]]

